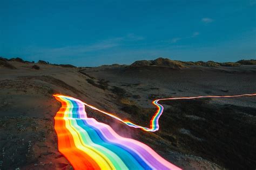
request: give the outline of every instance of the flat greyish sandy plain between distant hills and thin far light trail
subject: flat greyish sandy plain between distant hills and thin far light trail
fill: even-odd
[[[109,84],[122,87],[132,95],[140,95],[142,100],[138,103],[145,107],[151,106],[151,101],[145,101],[150,94],[165,97],[236,95],[253,93],[256,88],[255,66],[191,66],[181,70],[166,67],[98,67],[86,69],[84,72],[97,79],[109,80]],[[235,102],[237,100],[239,102]],[[221,103],[223,102],[256,106],[255,100],[251,98],[221,99]]]

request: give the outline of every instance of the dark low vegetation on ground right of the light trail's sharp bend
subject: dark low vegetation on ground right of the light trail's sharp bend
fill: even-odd
[[[160,101],[160,137],[174,148],[228,169],[253,169],[256,109],[212,104],[211,99]],[[191,115],[193,115],[191,118]]]

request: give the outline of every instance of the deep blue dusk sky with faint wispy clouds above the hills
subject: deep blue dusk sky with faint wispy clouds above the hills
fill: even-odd
[[[76,66],[255,59],[255,18],[255,0],[0,0],[0,55]]]

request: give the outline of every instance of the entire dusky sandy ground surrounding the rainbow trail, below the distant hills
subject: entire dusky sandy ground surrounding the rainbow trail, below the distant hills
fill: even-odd
[[[57,150],[53,117],[60,104],[52,94],[76,97],[148,125],[154,98],[256,90],[256,66],[69,68],[36,63],[40,67],[36,70],[34,63],[9,63],[17,69],[0,66],[0,169],[72,168]],[[128,128],[95,111],[89,113],[185,169],[255,168],[255,97],[163,104],[166,112],[156,133]],[[133,112],[134,108],[139,112]],[[223,153],[218,154],[220,147]]]

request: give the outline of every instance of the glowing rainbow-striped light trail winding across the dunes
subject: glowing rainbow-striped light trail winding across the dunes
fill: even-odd
[[[152,103],[156,105],[157,111],[150,121],[150,128],[123,121],[109,112],[99,110],[76,98],[54,95],[56,100],[62,103],[62,107],[55,116],[58,149],[75,169],[180,169],[160,157],[149,146],[134,139],[121,137],[109,125],[99,123],[94,118],[88,118],[85,106],[133,128],[154,132],[159,129],[158,120],[164,110],[164,107],[158,103],[161,100],[255,95],[174,97],[154,100]]]

